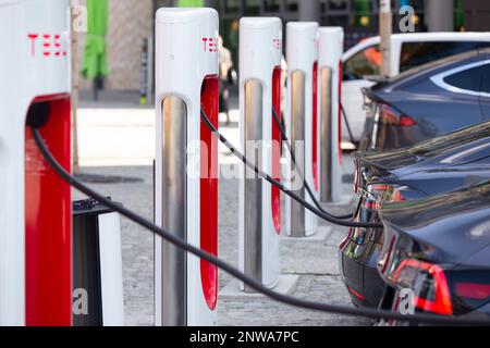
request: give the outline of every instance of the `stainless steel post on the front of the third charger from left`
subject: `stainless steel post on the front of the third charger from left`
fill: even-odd
[[[245,157],[261,167],[262,86],[257,80],[245,84]],[[253,150],[253,151],[250,151]],[[250,153],[252,152],[252,153]],[[254,177],[252,177],[254,176]],[[245,177],[245,274],[262,283],[262,181],[246,169]],[[244,290],[255,293],[244,285]]]

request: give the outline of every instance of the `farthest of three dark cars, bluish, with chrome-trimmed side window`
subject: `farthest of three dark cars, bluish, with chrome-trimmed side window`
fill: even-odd
[[[400,149],[490,120],[490,49],[426,64],[365,94],[359,151]]]

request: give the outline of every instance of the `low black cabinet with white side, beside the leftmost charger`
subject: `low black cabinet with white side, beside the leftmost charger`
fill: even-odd
[[[73,326],[123,326],[120,215],[95,199],[73,202],[72,240]]]

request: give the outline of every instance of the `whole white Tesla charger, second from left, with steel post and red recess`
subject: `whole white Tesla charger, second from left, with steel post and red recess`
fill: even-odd
[[[200,109],[218,127],[218,13],[163,8],[156,30],[156,223],[217,254],[218,144]],[[155,272],[157,325],[215,324],[216,266],[156,237]]]

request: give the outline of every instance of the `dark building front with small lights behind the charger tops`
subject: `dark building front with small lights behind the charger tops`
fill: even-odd
[[[464,1],[466,0],[392,0],[393,33],[400,32],[397,25],[402,17],[400,9],[405,5],[414,10],[415,32],[462,30]],[[347,49],[363,38],[378,35],[379,2],[379,0],[217,0],[216,8],[221,17],[220,30],[233,52],[237,49],[236,18],[243,15],[279,16],[284,24],[290,21],[318,21],[322,26],[342,26]],[[428,13],[430,7],[432,13]],[[444,13],[450,14],[443,15]],[[431,28],[432,16],[443,17],[445,21],[441,21],[442,26]]]

